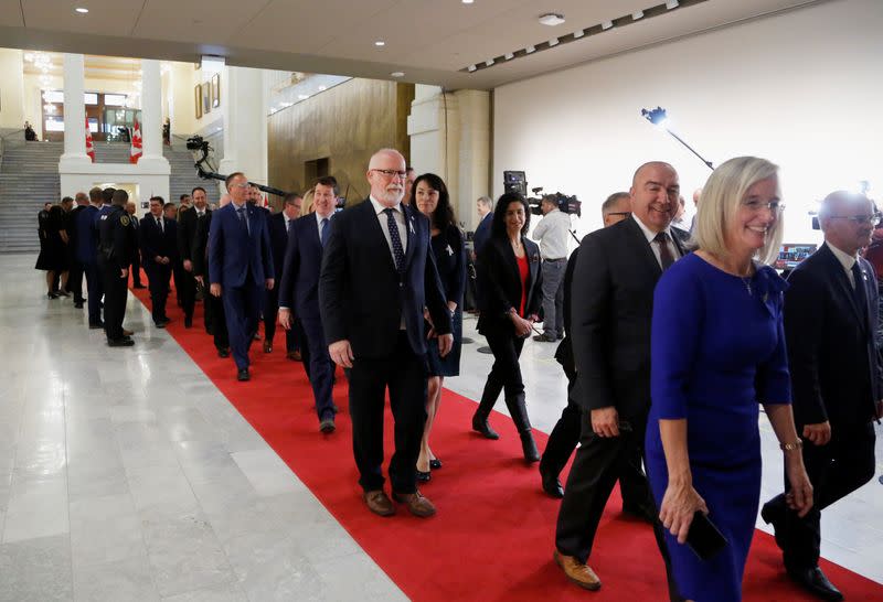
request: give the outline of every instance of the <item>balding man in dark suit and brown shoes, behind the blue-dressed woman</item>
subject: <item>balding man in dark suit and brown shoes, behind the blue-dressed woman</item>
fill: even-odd
[[[571,581],[588,590],[600,587],[586,562],[604,506],[629,460],[643,449],[653,288],[683,255],[670,232],[680,193],[674,168],[641,165],[629,193],[631,216],[583,238],[573,277],[577,384],[572,395],[582,406],[583,428],[558,512],[554,557]],[[653,507],[646,481],[642,488],[643,505]],[[655,530],[667,559],[658,520]]]

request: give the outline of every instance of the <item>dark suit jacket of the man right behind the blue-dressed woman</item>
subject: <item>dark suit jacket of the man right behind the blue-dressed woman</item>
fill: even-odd
[[[650,408],[650,323],[662,268],[632,215],[583,238],[573,275],[571,331],[586,410],[615,407],[646,419]],[[684,249],[672,237],[681,256]]]

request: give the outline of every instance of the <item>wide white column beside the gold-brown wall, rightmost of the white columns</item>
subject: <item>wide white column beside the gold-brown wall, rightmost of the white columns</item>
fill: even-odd
[[[267,111],[263,72],[247,67],[227,67],[226,98],[221,99],[224,116],[224,158],[219,171],[245,173],[249,181],[267,182]],[[226,192],[224,183],[221,194]]]

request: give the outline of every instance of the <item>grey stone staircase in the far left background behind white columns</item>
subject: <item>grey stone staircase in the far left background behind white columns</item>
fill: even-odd
[[[64,143],[6,139],[2,151],[0,252],[36,252],[40,250],[36,214],[44,203],[61,201],[58,159],[64,152]],[[162,154],[171,166],[170,198],[167,201],[178,204],[181,194],[190,194],[194,186],[203,186],[209,192],[209,202],[217,202],[216,182],[196,175],[190,151],[183,146],[180,149],[163,146]],[[95,162],[128,163],[129,143],[96,142]]]

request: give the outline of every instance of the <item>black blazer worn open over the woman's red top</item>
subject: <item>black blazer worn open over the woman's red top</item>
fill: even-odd
[[[528,256],[528,295],[524,315],[540,315],[542,311],[543,271],[540,269],[540,247],[533,240],[521,237]],[[481,287],[479,300],[478,332],[507,332],[514,334],[514,325],[509,318],[512,308],[521,308],[521,276],[518,259],[508,238],[491,236],[481,249],[476,266]]]

